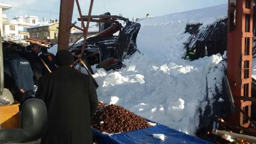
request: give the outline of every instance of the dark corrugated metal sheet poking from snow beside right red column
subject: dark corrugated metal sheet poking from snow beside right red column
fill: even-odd
[[[224,54],[227,49],[227,18],[206,27],[202,24],[187,25],[185,33],[191,34],[185,48],[193,48],[197,58]]]

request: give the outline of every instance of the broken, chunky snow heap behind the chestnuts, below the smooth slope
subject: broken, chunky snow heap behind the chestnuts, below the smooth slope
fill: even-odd
[[[119,72],[94,68],[100,101],[117,104],[152,121],[193,135],[206,97],[222,88],[220,55],[161,63],[134,54]],[[208,87],[207,87],[208,81]]]

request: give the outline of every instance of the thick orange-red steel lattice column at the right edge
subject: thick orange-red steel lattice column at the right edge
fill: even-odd
[[[230,30],[231,13],[235,11],[235,30]],[[234,96],[251,97],[251,68],[253,44],[253,0],[237,0],[236,6],[230,5],[227,34],[227,77]],[[247,28],[246,28],[247,27]],[[251,101],[235,99],[235,104],[249,117]],[[229,118],[235,125],[249,126],[242,113]]]

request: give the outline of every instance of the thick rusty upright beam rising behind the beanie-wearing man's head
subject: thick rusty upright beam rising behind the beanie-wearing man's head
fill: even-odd
[[[72,15],[74,0],[61,0],[59,12],[59,34],[58,50],[69,49],[70,31],[67,31],[72,25]]]

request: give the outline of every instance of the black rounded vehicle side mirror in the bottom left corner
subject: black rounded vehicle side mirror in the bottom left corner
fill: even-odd
[[[23,103],[20,126],[0,130],[0,144],[32,142],[46,134],[47,110],[41,99],[28,99]]]

